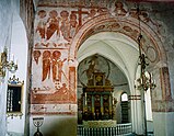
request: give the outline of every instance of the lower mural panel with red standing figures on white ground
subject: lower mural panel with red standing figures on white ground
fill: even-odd
[[[36,59],[38,53],[40,59]],[[73,103],[76,95],[71,93],[72,90],[68,86],[68,50],[36,49],[34,55],[32,103],[62,103],[63,101]]]

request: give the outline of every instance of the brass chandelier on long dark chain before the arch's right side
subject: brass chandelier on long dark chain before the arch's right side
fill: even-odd
[[[140,65],[140,77],[136,80],[135,87],[142,92],[142,101],[143,101],[143,113],[144,113],[144,135],[148,136],[147,132],[147,113],[146,113],[146,99],[144,99],[144,93],[147,92],[148,89],[152,90],[155,88],[155,82],[152,79],[152,73],[147,71],[147,66],[149,65],[147,63],[147,57],[146,54],[142,53],[141,50],[141,39],[142,39],[142,34],[141,34],[141,25],[140,25],[140,10],[139,5],[137,7],[137,13],[138,13],[138,21],[139,21],[139,36],[138,36],[138,46],[139,46],[139,64]]]

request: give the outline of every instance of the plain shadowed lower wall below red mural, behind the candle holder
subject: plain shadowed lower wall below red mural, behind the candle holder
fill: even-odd
[[[30,136],[37,131],[33,117],[44,117],[40,132],[44,136],[77,136],[77,117],[72,115],[33,115],[30,118]]]

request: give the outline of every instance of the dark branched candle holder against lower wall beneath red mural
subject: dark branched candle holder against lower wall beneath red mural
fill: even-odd
[[[33,124],[37,128],[34,136],[43,136],[43,134],[39,132],[39,127],[43,125],[43,123],[44,123],[44,117],[34,117],[33,118]]]

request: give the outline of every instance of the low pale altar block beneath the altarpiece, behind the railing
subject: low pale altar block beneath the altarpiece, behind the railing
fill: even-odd
[[[116,121],[107,120],[107,121],[83,121],[84,128],[98,128],[98,127],[115,127]]]

